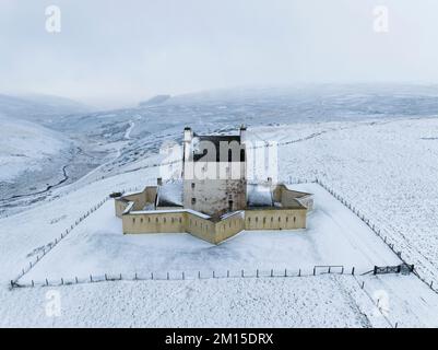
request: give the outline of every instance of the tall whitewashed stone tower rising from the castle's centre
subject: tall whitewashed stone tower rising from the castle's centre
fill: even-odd
[[[246,208],[246,127],[239,135],[184,130],[184,207],[209,215]]]

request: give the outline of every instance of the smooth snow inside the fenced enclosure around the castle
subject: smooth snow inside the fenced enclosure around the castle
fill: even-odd
[[[401,264],[396,255],[346,207],[317,184],[293,188],[315,194],[316,208],[308,229],[296,231],[248,231],[215,246],[190,234],[123,235],[115,217],[114,201],[107,201],[45,256],[19,282],[87,280],[92,276],[149,278],[311,273],[315,266],[355,267],[356,273],[377,266]],[[66,198],[69,200],[69,197]],[[86,203],[84,203],[86,206]],[[341,268],[333,269],[341,271]]]

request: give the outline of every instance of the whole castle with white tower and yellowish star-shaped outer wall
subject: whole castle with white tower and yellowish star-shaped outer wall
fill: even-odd
[[[247,180],[247,130],[197,135],[185,128],[181,178],[113,194],[125,234],[187,232],[218,244],[242,230],[306,228],[311,194]]]

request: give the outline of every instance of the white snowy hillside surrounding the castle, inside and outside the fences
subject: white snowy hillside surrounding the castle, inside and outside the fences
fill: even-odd
[[[133,126],[123,124],[120,138],[130,128],[129,138],[147,139],[138,132],[139,125],[137,119]],[[281,179],[323,180],[376,223],[427,281],[438,284],[438,119],[296,122],[252,127],[251,132],[279,140]],[[134,154],[139,144],[129,142]],[[154,183],[158,168],[147,166],[156,161],[139,154],[120,174],[105,178],[99,175],[106,168],[99,168],[86,180],[55,188],[39,203],[0,219],[1,326],[438,326],[438,294],[414,275],[114,281],[9,290],[23,267],[109,192]],[[138,170],[135,162],[141,162]],[[126,168],[130,172],[122,173]],[[307,232],[242,233],[217,247],[185,234],[123,236],[108,201],[23,281],[200,266],[211,270],[220,269],[220,261],[225,261],[224,269],[350,264],[364,270],[399,261],[325,190],[300,186],[312,186],[309,190],[317,195]],[[156,249],[151,252],[150,244]],[[45,314],[51,290],[60,293],[59,317]]]

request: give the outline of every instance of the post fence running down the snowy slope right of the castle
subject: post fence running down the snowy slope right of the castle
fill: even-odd
[[[394,243],[391,243],[388,238],[388,236],[383,235],[381,233],[381,230],[377,228],[377,225],[369,220],[368,218],[365,217],[364,213],[362,213],[355,206],[350,203],[346,199],[344,199],[341,195],[335,192],[332,187],[328,186],[325,183],[323,183],[321,179],[318,177],[316,178],[315,183],[320,185],[322,188],[324,188],[329,194],[331,194],[334,198],[336,198],[342,205],[344,205],[346,208],[348,208],[357,218],[359,218],[380,240],[395,254],[399,256],[400,260],[402,260],[404,264],[410,265],[403,257],[402,257],[402,252],[398,250],[395,248]],[[419,275],[419,272],[414,269],[413,273],[421,280],[423,281],[426,285],[429,287],[430,290],[433,290],[435,293],[438,294],[438,289],[434,288],[434,280],[430,280],[428,282],[423,276]]]

